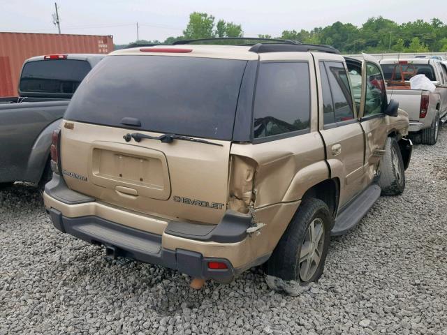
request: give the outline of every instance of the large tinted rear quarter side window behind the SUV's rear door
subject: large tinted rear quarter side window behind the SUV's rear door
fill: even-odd
[[[254,137],[308,129],[309,120],[309,64],[261,64],[254,100]]]

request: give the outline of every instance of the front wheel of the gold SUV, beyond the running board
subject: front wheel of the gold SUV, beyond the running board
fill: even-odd
[[[385,154],[380,161],[379,186],[381,195],[400,195],[405,189],[404,160],[394,137],[386,139]]]

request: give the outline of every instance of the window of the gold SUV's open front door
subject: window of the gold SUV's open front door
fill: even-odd
[[[386,106],[386,87],[380,69],[366,64],[366,98],[364,116],[380,114]]]

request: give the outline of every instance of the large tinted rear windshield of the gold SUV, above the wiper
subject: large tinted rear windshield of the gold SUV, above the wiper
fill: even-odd
[[[231,140],[247,61],[177,56],[105,57],[80,85],[66,119]],[[129,127],[127,127],[129,128]]]

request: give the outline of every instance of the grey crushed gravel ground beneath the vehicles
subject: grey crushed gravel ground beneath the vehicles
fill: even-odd
[[[447,334],[447,127],[418,145],[400,197],[332,239],[298,297],[258,269],[190,290],[177,271],[103,259],[52,227],[40,195],[0,192],[0,334]]]

